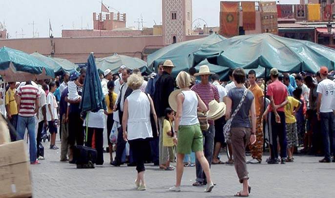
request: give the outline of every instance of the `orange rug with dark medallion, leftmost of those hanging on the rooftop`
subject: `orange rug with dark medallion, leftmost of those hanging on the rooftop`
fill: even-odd
[[[220,6],[220,34],[233,37],[239,34],[239,2],[223,2]]]

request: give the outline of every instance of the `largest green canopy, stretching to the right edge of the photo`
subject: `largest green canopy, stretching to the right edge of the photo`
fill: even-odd
[[[309,41],[269,33],[236,36],[194,53],[193,66],[211,57],[212,64],[246,69],[258,66],[280,72],[316,73],[320,66],[334,70],[335,50]]]

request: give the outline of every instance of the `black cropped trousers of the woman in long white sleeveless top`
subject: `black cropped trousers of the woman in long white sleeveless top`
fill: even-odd
[[[129,140],[129,146],[132,150],[133,160],[136,163],[137,173],[145,171],[144,161],[146,160],[146,152],[144,152],[143,148],[149,147],[149,141],[146,139],[134,139]]]

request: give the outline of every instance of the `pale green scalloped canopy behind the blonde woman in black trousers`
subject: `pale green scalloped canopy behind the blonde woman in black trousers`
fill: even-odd
[[[113,74],[118,73],[120,66],[126,66],[130,69],[139,68],[141,73],[147,70],[147,62],[117,53],[105,58],[97,58],[95,64],[100,71],[104,72],[106,69],[110,69]]]

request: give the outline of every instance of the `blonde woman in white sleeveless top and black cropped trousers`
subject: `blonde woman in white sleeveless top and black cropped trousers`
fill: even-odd
[[[143,152],[143,148],[149,147],[149,138],[152,137],[153,133],[150,110],[152,110],[151,113],[155,120],[156,129],[158,129],[157,116],[151,97],[140,89],[143,84],[143,77],[139,74],[132,74],[127,79],[127,84],[129,88],[133,89],[133,92],[126,98],[124,104],[122,117],[123,136],[125,141],[129,142],[134,162],[136,163],[136,188],[137,190],[146,190],[144,179],[146,154]]]

